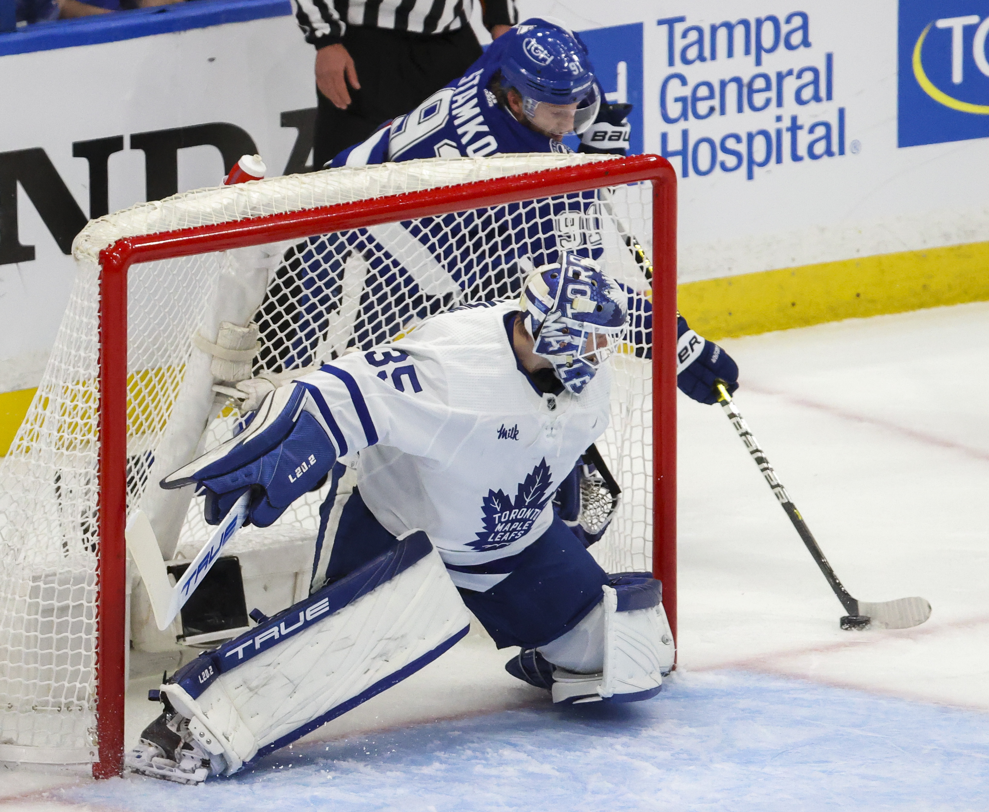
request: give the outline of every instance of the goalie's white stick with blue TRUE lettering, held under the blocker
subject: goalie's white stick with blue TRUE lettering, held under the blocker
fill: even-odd
[[[168,628],[175,615],[189,600],[189,596],[202,583],[210,568],[220,557],[226,542],[243,526],[249,503],[248,491],[233,503],[224,521],[217,526],[210,540],[197,553],[174,587],[168,581],[168,571],[147,517],[143,512],[138,511],[128,522],[126,530],[128,548],[147,589],[147,597],[154,611],[154,622],[158,629],[164,631]]]

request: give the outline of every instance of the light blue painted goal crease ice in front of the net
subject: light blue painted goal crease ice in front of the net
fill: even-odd
[[[141,812],[932,812],[984,808],[987,785],[984,714],[730,672],[677,678],[638,704],[544,705],[296,747],[199,788],[132,777],[52,797]]]

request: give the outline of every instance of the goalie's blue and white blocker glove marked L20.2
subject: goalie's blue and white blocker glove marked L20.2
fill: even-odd
[[[251,491],[247,522],[266,528],[295,500],[315,490],[336,461],[329,428],[306,386],[281,386],[262,401],[248,426],[161,480],[162,488],[197,485],[204,518],[218,525]]]

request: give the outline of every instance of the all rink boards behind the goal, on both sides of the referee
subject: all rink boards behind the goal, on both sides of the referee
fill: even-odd
[[[519,7],[580,33],[608,100],[633,105],[632,151],[674,165],[681,304],[712,337],[989,297],[983,0]],[[244,152],[307,169],[313,50],[284,0],[230,8],[136,39],[0,41],[0,392],[40,379],[88,218],[216,185]]]

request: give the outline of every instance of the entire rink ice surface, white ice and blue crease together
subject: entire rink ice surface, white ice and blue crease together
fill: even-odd
[[[739,409],[846,586],[923,596],[927,623],[841,631],[721,409],[681,397],[681,670],[656,699],[553,708],[504,674],[511,652],[469,637],[233,779],[0,768],[0,808],[989,808],[989,303],[723,344]],[[154,705],[128,712],[133,738]]]

